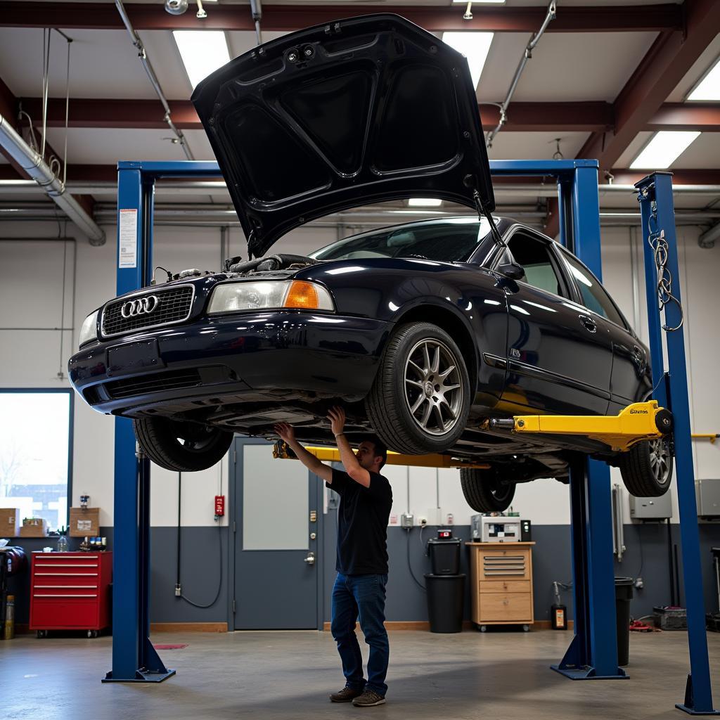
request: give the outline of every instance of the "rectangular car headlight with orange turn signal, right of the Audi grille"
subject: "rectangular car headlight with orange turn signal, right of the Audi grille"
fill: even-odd
[[[305,280],[225,282],[212,291],[207,312],[266,310],[335,310],[333,297],[322,285]]]

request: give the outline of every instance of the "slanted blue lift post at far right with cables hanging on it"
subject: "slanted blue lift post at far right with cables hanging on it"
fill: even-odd
[[[675,208],[672,202],[672,173],[649,175],[639,181],[636,188],[642,215],[652,381],[658,386],[657,399],[672,411],[675,423],[675,477],[678,482],[680,539],[683,550],[683,580],[690,646],[690,674],[685,687],[685,701],[677,703],[675,707],[690,715],[719,715],[720,711],[713,709],[705,628],[698,508],[695,496],[693,449],[690,441],[688,370],[685,364],[678,243],[675,234]],[[657,257],[651,243],[657,248]],[[670,287],[665,286],[662,289],[660,299],[658,261],[667,267],[667,276],[663,279],[670,279],[671,282]],[[672,293],[672,297],[667,294],[668,292]],[[660,301],[664,307],[659,309]],[[664,369],[660,326],[663,309],[665,324],[662,330],[665,330],[667,345],[667,374]],[[660,382],[662,379],[665,379],[664,384]]]

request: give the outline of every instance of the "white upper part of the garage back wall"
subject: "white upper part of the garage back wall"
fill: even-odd
[[[71,224],[67,226],[67,234],[74,235],[76,243],[0,242],[0,328],[74,328],[62,333],[62,359],[61,333],[58,331],[0,329],[0,387],[69,387],[66,379],[58,379],[58,372],[60,369],[64,371],[68,357],[76,348],[78,329],[89,312],[114,295],[115,228],[105,229],[109,240],[99,248],[89,246]],[[716,308],[720,307],[720,248],[698,248],[698,234],[696,228],[678,228],[683,275],[680,280],[685,305],[685,345],[691,381],[690,412],[694,431],[715,432],[719,429],[712,411],[720,400],[720,390],[714,371],[720,348],[714,315]],[[56,223],[18,222],[0,225],[0,238],[53,238],[57,235]],[[296,230],[278,246],[278,250],[307,253],[335,239],[336,233],[330,229]],[[77,250],[76,268],[73,246]],[[635,267],[640,274],[637,306],[633,302],[631,247],[635,248]],[[229,254],[246,256],[246,248],[238,230],[230,231]],[[157,228],[153,263],[173,271],[188,267],[218,269],[220,230]],[[603,231],[603,282],[629,321],[647,341],[639,232],[631,233],[628,228],[606,228]],[[639,325],[635,319],[638,315]],[[101,524],[110,526],[114,420],[90,410],[79,398],[75,408],[72,503],[77,505],[81,494],[91,495],[91,504],[102,508]],[[39,421],[39,438],[48,431],[51,428],[44,428]],[[720,444],[696,441],[693,446],[696,476],[720,477]],[[454,523],[469,523],[469,516],[474,511],[464,502],[457,471],[426,468],[408,470],[390,466],[386,467],[386,471],[395,497],[392,515],[397,516],[398,523],[401,513],[410,511],[415,516],[428,516],[428,512],[438,505],[443,521],[447,513],[452,513]],[[227,470],[222,470],[221,477],[220,464],[206,472],[184,476],[184,525],[212,525],[212,503],[220,490],[220,482],[227,495]],[[613,470],[613,482],[621,482],[616,470]],[[153,525],[174,525],[177,520],[176,474],[153,467],[151,487]],[[677,508],[675,498],[673,503]],[[569,523],[567,486],[554,480],[536,480],[519,485],[513,509],[535,524]],[[627,509],[625,511],[627,513]],[[673,519],[678,521],[676,509]],[[628,517],[626,521],[629,521]]]

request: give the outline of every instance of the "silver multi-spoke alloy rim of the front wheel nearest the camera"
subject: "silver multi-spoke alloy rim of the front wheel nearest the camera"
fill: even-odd
[[[457,424],[464,393],[458,365],[451,349],[435,338],[415,343],[405,361],[405,402],[429,435],[445,435]]]

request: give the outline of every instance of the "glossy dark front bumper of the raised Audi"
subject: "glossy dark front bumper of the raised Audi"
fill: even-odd
[[[391,323],[305,311],[200,318],[94,343],[73,355],[73,387],[101,413],[181,412],[293,391],[359,399]]]

